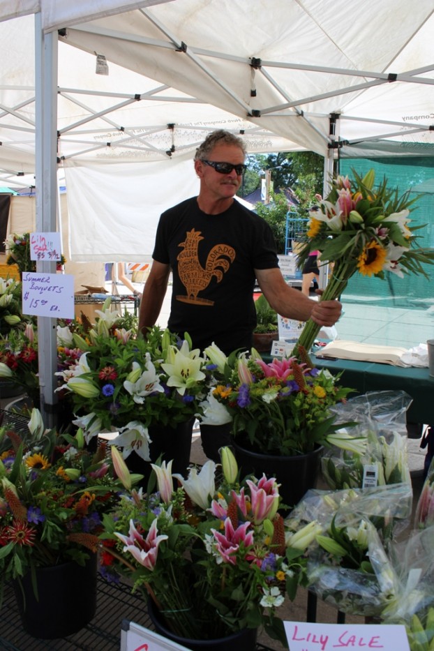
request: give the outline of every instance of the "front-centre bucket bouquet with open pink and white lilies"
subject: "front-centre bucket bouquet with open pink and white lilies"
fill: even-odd
[[[123,463],[113,454],[115,465]],[[225,637],[264,625],[284,641],[276,611],[285,594],[294,598],[304,553],[320,529],[312,522],[292,532],[290,519],[277,513],[275,479],[240,481],[230,449],[220,455],[220,486],[214,461],[190,469],[188,479],[174,475],[176,490],[172,461],[153,465],[158,491],[132,491],[104,517],[104,574],[128,576],[179,636]]]

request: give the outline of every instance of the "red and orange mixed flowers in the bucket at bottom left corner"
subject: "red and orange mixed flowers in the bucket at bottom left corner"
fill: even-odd
[[[82,432],[45,430],[36,409],[29,435],[0,428],[0,593],[38,567],[84,564],[119,488],[104,444],[89,452]]]

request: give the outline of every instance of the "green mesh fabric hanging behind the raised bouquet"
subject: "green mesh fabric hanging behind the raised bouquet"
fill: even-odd
[[[383,177],[389,186],[397,187],[399,193],[411,190],[419,200],[412,210],[412,227],[421,228],[418,244],[434,248],[434,156],[420,158],[345,158],[340,161],[340,174],[351,176],[352,170],[363,176],[371,167],[375,170],[375,183]],[[425,190],[420,192],[420,186]],[[354,274],[347,285],[342,299],[355,303],[359,297],[369,297],[375,305],[424,310],[434,305],[434,265],[425,267],[424,276],[404,276],[385,273],[385,278],[366,278]]]

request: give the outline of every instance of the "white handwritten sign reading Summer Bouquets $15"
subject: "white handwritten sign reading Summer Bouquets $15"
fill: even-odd
[[[74,318],[74,276],[22,274],[22,312],[55,319]]]

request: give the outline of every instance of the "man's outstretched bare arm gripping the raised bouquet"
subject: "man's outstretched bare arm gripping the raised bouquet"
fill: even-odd
[[[307,321],[312,318],[318,325],[332,326],[341,316],[342,305],[339,301],[311,301],[285,283],[280,269],[255,269],[255,274],[271,307],[287,319]]]

